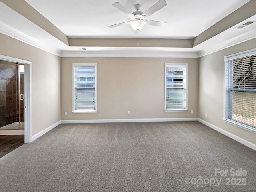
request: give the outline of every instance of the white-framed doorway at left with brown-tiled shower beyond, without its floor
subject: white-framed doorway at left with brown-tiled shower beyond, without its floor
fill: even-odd
[[[0,55],[0,135],[24,135],[31,142],[32,63]]]

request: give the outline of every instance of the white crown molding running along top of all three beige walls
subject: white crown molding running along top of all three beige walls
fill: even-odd
[[[196,51],[194,52],[192,51],[191,52],[188,52],[188,51],[184,51],[184,52],[115,51],[113,52],[113,51],[88,51],[88,50],[61,51],[52,45],[44,44],[43,42],[36,40],[35,38],[32,38],[31,36],[28,36],[27,34],[20,32],[19,30],[16,30],[15,28],[9,26],[4,22],[0,22],[0,32],[2,34],[15,38],[21,42],[24,42],[26,44],[29,44],[31,46],[34,46],[36,48],[39,48],[41,50],[44,50],[46,52],[49,52],[51,54],[54,54],[60,57],[87,57],[87,58],[89,57],[198,58],[198,57],[206,56],[208,54],[212,54],[214,52],[223,50],[225,48],[256,38],[256,30],[250,30],[244,34],[241,34],[240,36],[237,36],[236,38],[232,38],[230,40],[224,41],[221,44],[217,44],[217,45],[210,44],[207,47],[205,46],[204,49],[201,50],[200,52],[196,52]]]

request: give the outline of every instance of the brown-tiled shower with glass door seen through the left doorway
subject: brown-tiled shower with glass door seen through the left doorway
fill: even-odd
[[[0,130],[24,130],[24,64],[0,60]]]

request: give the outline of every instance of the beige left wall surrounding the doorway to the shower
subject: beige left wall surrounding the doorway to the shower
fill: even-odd
[[[0,54],[32,62],[32,135],[60,121],[60,57],[4,34]]]

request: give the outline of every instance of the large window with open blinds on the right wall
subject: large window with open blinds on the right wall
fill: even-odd
[[[225,120],[256,130],[256,50],[226,56]]]

